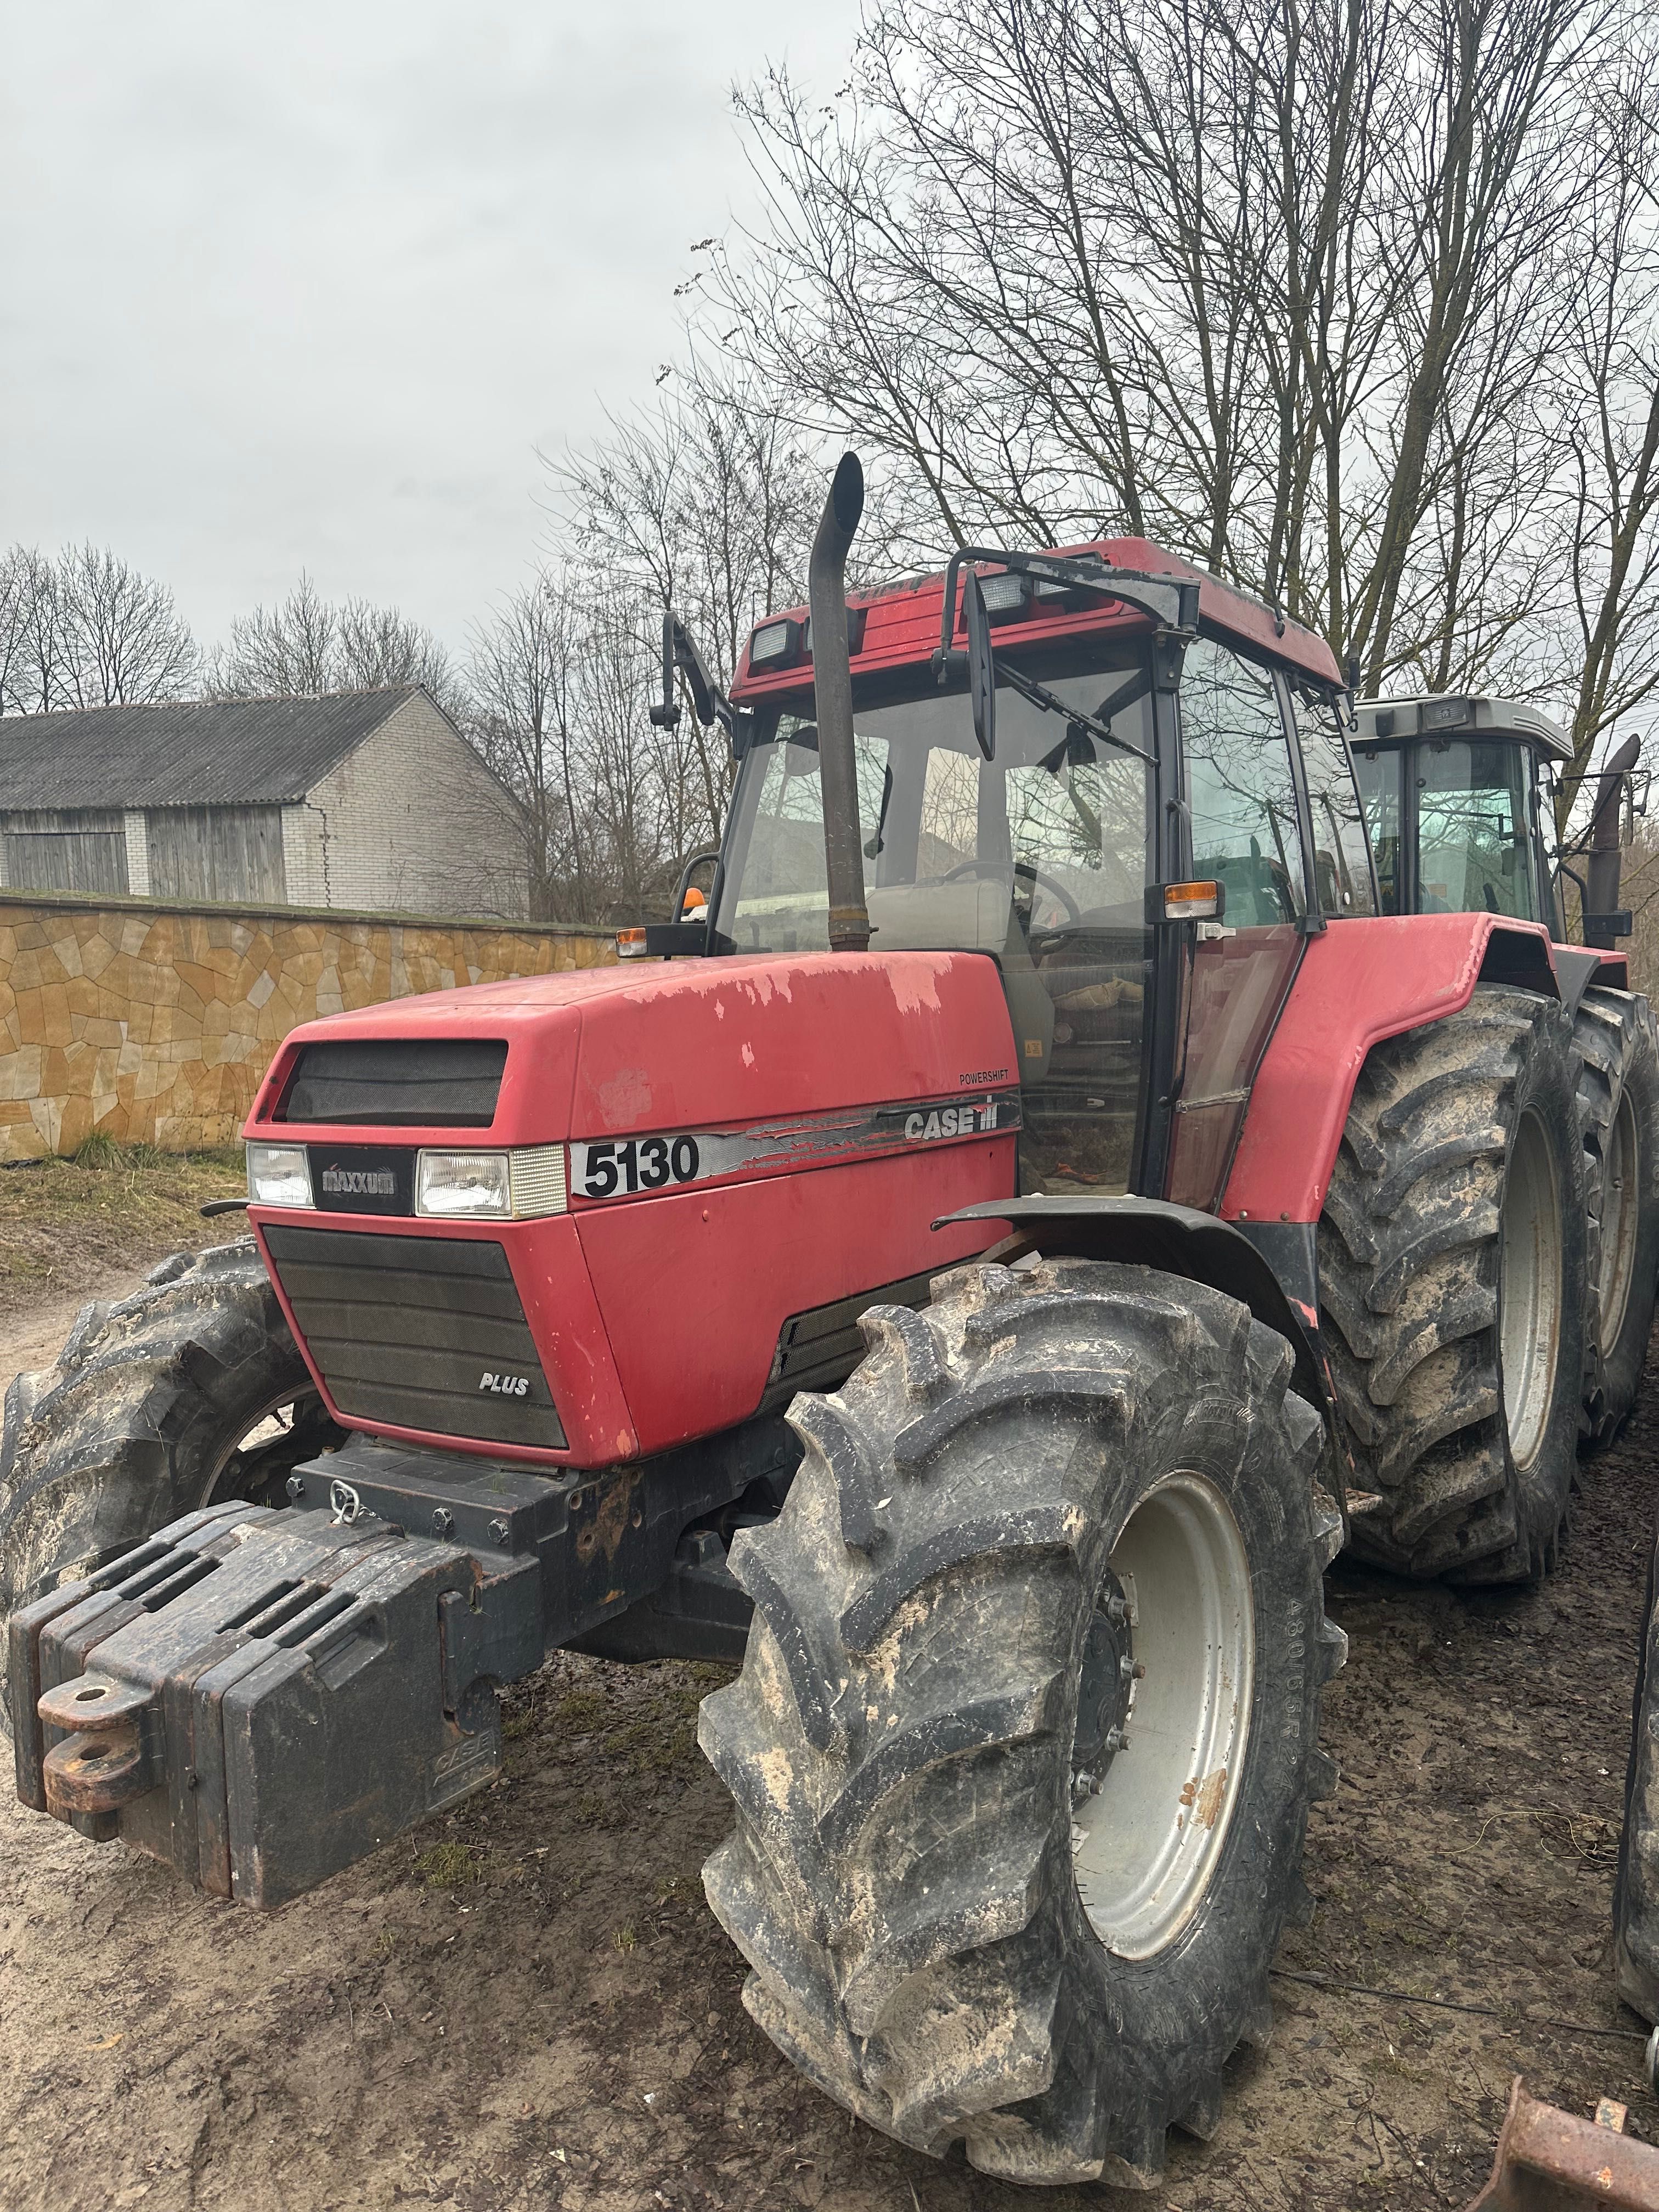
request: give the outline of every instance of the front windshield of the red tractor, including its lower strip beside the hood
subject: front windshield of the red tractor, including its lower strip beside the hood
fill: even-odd
[[[854,717],[872,951],[982,951],[1002,969],[1026,1190],[1128,1188],[1144,1097],[1152,750],[1144,655],[1044,675],[1064,712],[998,690],[995,761],[960,692]],[[1084,714],[1110,737],[1073,721]],[[830,942],[818,732],[761,732],[737,792],[714,942]]]

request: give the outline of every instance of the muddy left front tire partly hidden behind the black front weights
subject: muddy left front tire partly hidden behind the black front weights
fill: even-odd
[[[215,1495],[265,1495],[336,1440],[252,1239],[161,1261],[7,1391],[0,1619]]]

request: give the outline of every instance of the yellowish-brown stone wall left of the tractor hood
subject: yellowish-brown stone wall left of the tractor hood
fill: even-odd
[[[232,1144],[299,1022],[613,958],[584,929],[0,894],[0,1161]]]

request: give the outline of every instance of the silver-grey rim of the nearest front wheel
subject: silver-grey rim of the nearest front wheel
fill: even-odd
[[[1113,1548],[1137,1681],[1126,1743],[1073,1807],[1088,1920],[1119,1958],[1168,1949],[1197,1911],[1239,1801],[1254,1606],[1239,1522],[1203,1475],[1166,1475]]]

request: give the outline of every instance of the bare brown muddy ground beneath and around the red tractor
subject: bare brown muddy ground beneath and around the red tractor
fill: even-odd
[[[13,1310],[0,1345],[42,1329]],[[1515,2073],[1577,2112],[1626,2099],[1659,2137],[1608,1982],[1659,1374],[1644,1405],[1586,1464],[1542,1590],[1332,1573],[1343,1781],[1314,1809],[1318,1913],[1283,1947],[1274,2044],[1228,2068],[1212,2143],[1170,2139],[1161,2192],[1053,2212],[1464,2205]],[[695,1745],[717,1679],[555,1657],[511,1697],[500,1783],[272,1918],[4,1801],[0,2201],[1031,2208],[852,2121],[743,2013],[699,1887],[728,1825]]]

